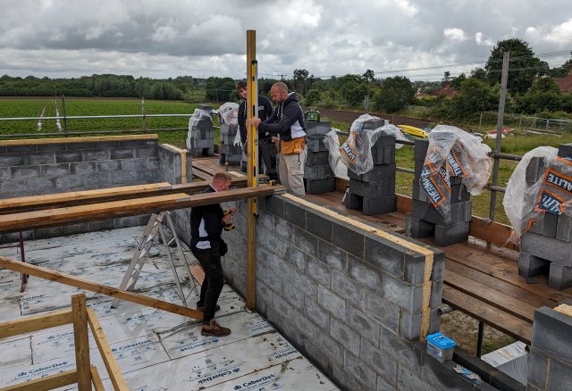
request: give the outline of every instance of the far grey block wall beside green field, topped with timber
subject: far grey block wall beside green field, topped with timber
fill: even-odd
[[[0,141],[0,198],[170,182],[169,179],[181,183],[181,159],[175,159],[175,155],[181,154],[177,149],[159,148],[156,135]],[[186,164],[191,164],[190,159]],[[192,169],[187,170],[189,173]],[[127,216],[22,234],[25,240],[61,237],[145,225],[148,219],[147,214]],[[0,244],[19,238],[18,232],[0,234]]]

